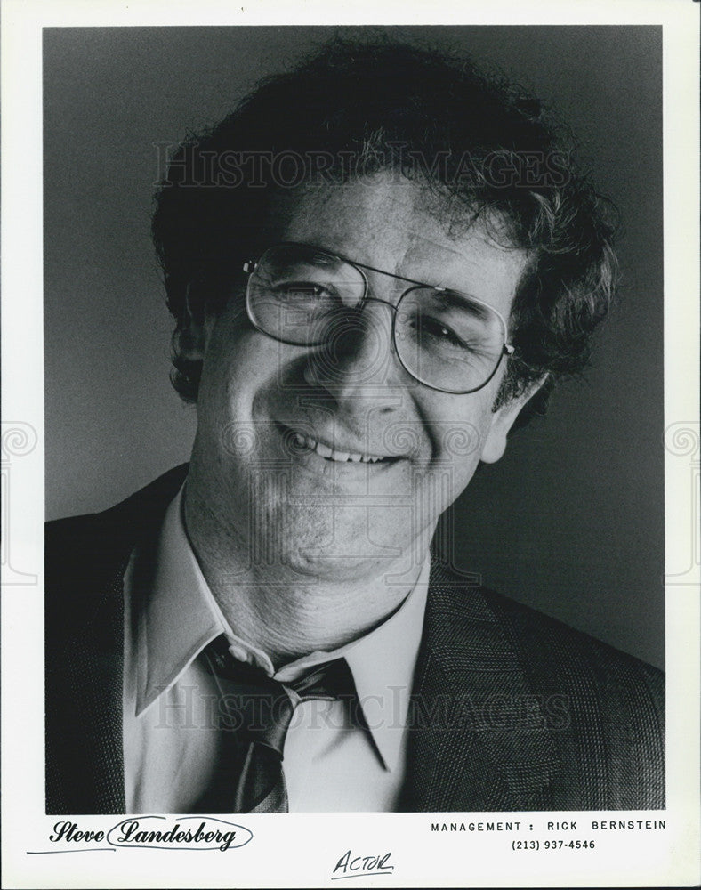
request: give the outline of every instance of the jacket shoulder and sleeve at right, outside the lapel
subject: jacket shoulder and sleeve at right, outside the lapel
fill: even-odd
[[[665,675],[641,659],[492,592],[530,687],[561,718],[551,732],[561,772],[553,809],[665,806]],[[572,779],[593,789],[573,798]]]

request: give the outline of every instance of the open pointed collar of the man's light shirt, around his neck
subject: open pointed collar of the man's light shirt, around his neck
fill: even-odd
[[[183,490],[184,486],[165,513],[153,584],[137,622],[137,716],[176,683],[220,634],[228,637],[235,658],[257,664],[283,683],[322,661],[345,658],[383,764],[395,769],[423,630],[429,557],[415,587],[389,619],[352,643],[312,652],[276,672],[264,651],[233,632],[214,600],[182,522]]]

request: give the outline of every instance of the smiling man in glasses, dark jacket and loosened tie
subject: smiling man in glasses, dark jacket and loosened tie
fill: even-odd
[[[584,366],[612,227],[538,103],[329,44],[174,156],[180,467],[47,536],[47,811],[664,805],[651,667],[431,559]]]

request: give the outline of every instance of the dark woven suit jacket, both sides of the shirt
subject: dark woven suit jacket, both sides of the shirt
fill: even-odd
[[[123,578],[187,467],[46,538],[46,811],[124,813]],[[434,562],[402,811],[662,808],[664,678]]]

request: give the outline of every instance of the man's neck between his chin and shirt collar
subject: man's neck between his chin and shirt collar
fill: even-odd
[[[334,567],[321,561],[304,571],[251,564],[249,547],[213,536],[187,500],[184,518],[224,618],[238,636],[265,651],[275,667],[312,651],[337,649],[382,624],[415,587],[431,541],[427,536],[423,548],[411,548],[423,554],[420,559],[359,564],[334,578]]]

